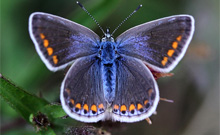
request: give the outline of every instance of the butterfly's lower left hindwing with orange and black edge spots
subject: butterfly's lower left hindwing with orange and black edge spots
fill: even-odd
[[[107,102],[104,99],[101,61],[91,55],[77,59],[61,86],[61,103],[65,112],[82,122],[104,119]]]

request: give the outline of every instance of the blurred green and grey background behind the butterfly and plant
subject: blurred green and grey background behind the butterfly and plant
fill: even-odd
[[[183,60],[160,78],[161,101],[157,115],[132,124],[104,126],[112,135],[219,135],[219,0],[80,0],[105,29],[111,30],[139,4],[143,7],[114,34],[147,21],[190,14],[195,34]],[[29,93],[49,102],[59,102],[60,85],[67,70],[50,72],[35,51],[28,33],[28,17],[36,11],[68,18],[102,32],[74,0],[1,0],[1,71],[6,78]],[[34,128],[3,100],[1,134],[29,134]],[[117,125],[117,126],[114,126]]]

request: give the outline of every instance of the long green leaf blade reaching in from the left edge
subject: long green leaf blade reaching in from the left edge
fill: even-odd
[[[29,116],[38,112],[48,102],[35,95],[29,94],[23,89],[15,86],[0,74],[0,96],[14,110],[29,121]]]

